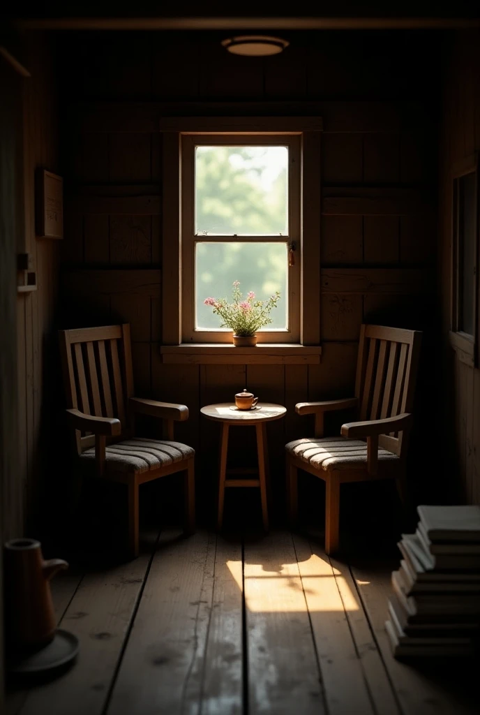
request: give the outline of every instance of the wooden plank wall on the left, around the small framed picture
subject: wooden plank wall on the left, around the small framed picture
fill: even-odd
[[[34,221],[35,169],[59,173],[60,168],[56,75],[48,37],[26,34],[24,62],[31,72],[24,80],[25,250],[33,259],[38,290],[17,298],[19,479],[26,528],[39,533],[55,467],[47,463],[47,454],[59,408],[55,322],[60,242],[37,239]]]

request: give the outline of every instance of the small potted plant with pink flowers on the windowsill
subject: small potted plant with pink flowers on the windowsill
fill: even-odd
[[[221,317],[220,327],[229,327],[234,331],[236,347],[254,347],[256,331],[273,322],[270,312],[279,301],[280,291],[277,290],[268,300],[256,300],[252,290],[244,298],[239,285],[240,282],[235,280],[233,302],[226,298],[206,298],[204,304],[211,305],[214,313]]]

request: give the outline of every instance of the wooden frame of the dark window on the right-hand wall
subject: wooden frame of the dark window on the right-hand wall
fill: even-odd
[[[459,280],[459,179],[475,175],[475,209],[474,209],[474,290],[473,290],[473,323],[474,334],[470,335],[463,330],[459,330],[460,325],[460,297],[461,289]],[[479,258],[479,152],[471,154],[461,162],[454,165],[451,173],[451,300],[450,300],[450,343],[456,351],[459,360],[466,365],[474,367],[478,365],[478,258]]]

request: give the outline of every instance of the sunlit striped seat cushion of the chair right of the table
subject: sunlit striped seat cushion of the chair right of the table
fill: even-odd
[[[366,442],[345,437],[303,438],[289,442],[285,449],[315,469],[366,468]],[[396,454],[379,449],[379,461],[395,461]]]

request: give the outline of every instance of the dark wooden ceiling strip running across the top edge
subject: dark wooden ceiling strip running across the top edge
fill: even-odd
[[[40,7],[40,9],[39,9]],[[337,0],[322,3],[321,11],[299,0],[294,15],[281,6],[244,1],[240,11],[224,2],[207,5],[184,0],[151,4],[137,1],[130,9],[118,2],[101,4],[72,1],[45,2],[33,10],[26,4],[16,9],[15,24],[21,29],[137,29],[137,30],[314,30],[314,29],[444,29],[479,26],[478,7],[464,0],[434,4],[423,0]]]

